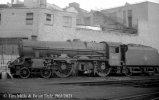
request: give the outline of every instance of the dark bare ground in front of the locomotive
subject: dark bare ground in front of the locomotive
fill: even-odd
[[[75,99],[75,100],[106,100],[115,98],[124,98],[134,95],[159,92],[159,86],[134,87],[131,85],[99,85],[99,82],[116,82],[132,80],[157,80],[159,76],[113,76],[113,77],[69,77],[69,78],[30,78],[30,79],[8,79],[0,80],[0,98],[6,94],[6,98],[14,100],[15,96],[31,95],[29,99],[44,97],[45,99]],[[96,82],[94,85],[81,85],[83,83]],[[68,84],[67,84],[68,83]],[[78,84],[72,84],[78,83]],[[9,96],[10,95],[10,96]],[[39,96],[39,97],[38,97]],[[11,98],[12,97],[12,98]],[[140,99],[142,97],[139,97]],[[146,97],[148,98],[148,97]],[[154,98],[157,98],[154,96]],[[4,98],[3,98],[4,99]],[[136,99],[136,98],[135,98]],[[139,100],[140,100],[139,99]],[[0,99],[1,100],[1,99]],[[123,99],[124,100],[124,99]],[[125,99],[126,100],[126,99]],[[131,100],[131,99],[129,99]],[[136,99],[137,100],[137,99]],[[146,100],[146,99],[144,99]]]

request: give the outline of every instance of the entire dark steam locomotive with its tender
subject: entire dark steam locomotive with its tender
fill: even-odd
[[[9,64],[13,75],[28,78],[40,74],[68,77],[94,74],[105,77],[114,73],[153,74],[159,72],[159,54],[152,47],[113,42],[32,41],[18,42],[19,58]]]

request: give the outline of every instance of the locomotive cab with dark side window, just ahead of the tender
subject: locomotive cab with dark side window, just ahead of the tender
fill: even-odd
[[[127,45],[122,43],[108,43],[109,45],[109,66],[111,73],[130,75],[126,67]]]

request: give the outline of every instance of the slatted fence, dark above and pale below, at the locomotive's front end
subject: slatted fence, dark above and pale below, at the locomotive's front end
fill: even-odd
[[[18,42],[16,38],[0,38],[0,72],[8,71],[8,63],[19,56]]]

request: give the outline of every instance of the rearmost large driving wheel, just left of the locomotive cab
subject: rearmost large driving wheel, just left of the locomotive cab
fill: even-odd
[[[106,66],[105,62],[99,62],[99,64],[97,65],[96,73],[101,77],[106,77],[107,75],[109,75],[110,71],[111,68]]]

